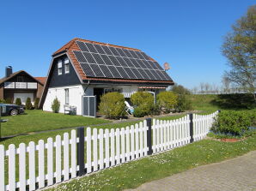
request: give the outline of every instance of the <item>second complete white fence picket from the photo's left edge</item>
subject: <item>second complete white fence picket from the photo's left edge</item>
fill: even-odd
[[[20,150],[20,153],[19,153],[20,191],[26,191],[26,185],[27,185],[27,183],[26,183],[26,170],[24,170],[24,167],[26,166],[26,145],[25,145],[25,143],[21,143],[19,145],[19,150]],[[0,178],[0,180],[2,180],[2,179]],[[1,188],[0,188],[0,190],[1,190]]]

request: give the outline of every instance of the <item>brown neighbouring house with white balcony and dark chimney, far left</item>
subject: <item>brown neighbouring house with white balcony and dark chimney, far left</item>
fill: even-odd
[[[0,99],[10,98],[15,103],[16,98],[21,98],[21,103],[25,104],[27,98],[40,98],[46,77],[33,77],[26,71],[20,70],[12,72],[12,67],[5,69],[5,77],[0,79]]]

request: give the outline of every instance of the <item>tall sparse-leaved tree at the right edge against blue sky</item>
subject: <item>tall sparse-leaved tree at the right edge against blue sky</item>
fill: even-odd
[[[225,78],[247,93],[253,93],[256,102],[256,5],[235,22],[222,45],[222,54],[228,58],[230,70]]]

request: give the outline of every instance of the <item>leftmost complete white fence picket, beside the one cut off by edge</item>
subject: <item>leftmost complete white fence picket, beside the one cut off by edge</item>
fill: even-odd
[[[9,145],[9,190],[15,191],[15,145]]]

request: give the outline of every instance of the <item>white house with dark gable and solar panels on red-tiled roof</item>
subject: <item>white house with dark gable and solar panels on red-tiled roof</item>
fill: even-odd
[[[52,111],[52,101],[58,98],[59,112],[72,106],[77,115],[95,116],[104,93],[130,98],[137,91],[155,94],[171,85],[166,71],[143,51],[72,39],[52,55],[40,107]]]

